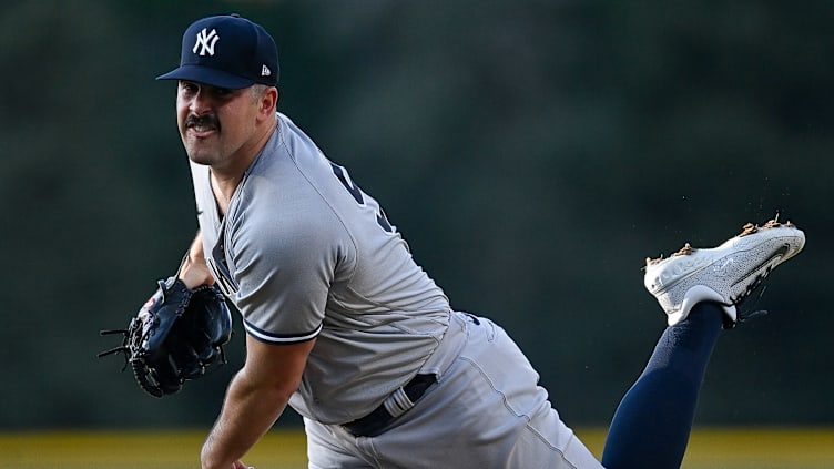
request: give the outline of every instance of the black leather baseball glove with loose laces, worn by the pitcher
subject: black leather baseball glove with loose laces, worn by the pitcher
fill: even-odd
[[[226,363],[223,345],[232,337],[232,314],[218,288],[190,290],[182,281],[159,281],[159,289],[142,306],[123,334],[122,345],[99,358],[123,353],[139,386],[154,397],[174,394],[186,379]],[[124,370],[122,368],[122,370]]]

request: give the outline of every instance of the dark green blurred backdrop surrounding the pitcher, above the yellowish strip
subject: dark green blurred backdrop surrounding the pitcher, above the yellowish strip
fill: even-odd
[[[0,430],[215,418],[238,319],[230,366],[162,400],[95,354],[196,230],[154,77],[233,11],[278,43],[279,110],[456,308],[511,333],[569,425],[608,422],[664,327],[643,259],[776,213],[806,249],[722,337],[698,421],[834,424],[834,2],[39,0],[0,12]]]

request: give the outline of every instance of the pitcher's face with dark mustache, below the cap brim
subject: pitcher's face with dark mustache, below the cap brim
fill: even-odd
[[[257,105],[248,88],[228,90],[180,81],[176,122],[189,157],[222,170],[257,151],[252,147]]]

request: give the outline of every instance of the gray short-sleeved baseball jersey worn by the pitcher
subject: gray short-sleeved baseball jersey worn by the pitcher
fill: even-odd
[[[271,344],[317,337],[296,411],[350,421],[418,371],[448,328],[447,297],[379,204],[288,118],[278,114],[225,216],[208,166],[191,169],[206,261],[246,333]]]

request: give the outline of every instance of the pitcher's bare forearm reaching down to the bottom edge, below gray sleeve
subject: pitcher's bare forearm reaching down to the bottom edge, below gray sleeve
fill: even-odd
[[[203,445],[203,469],[232,468],[275,424],[288,399],[286,392],[250,379],[242,369],[230,384],[223,410]]]

